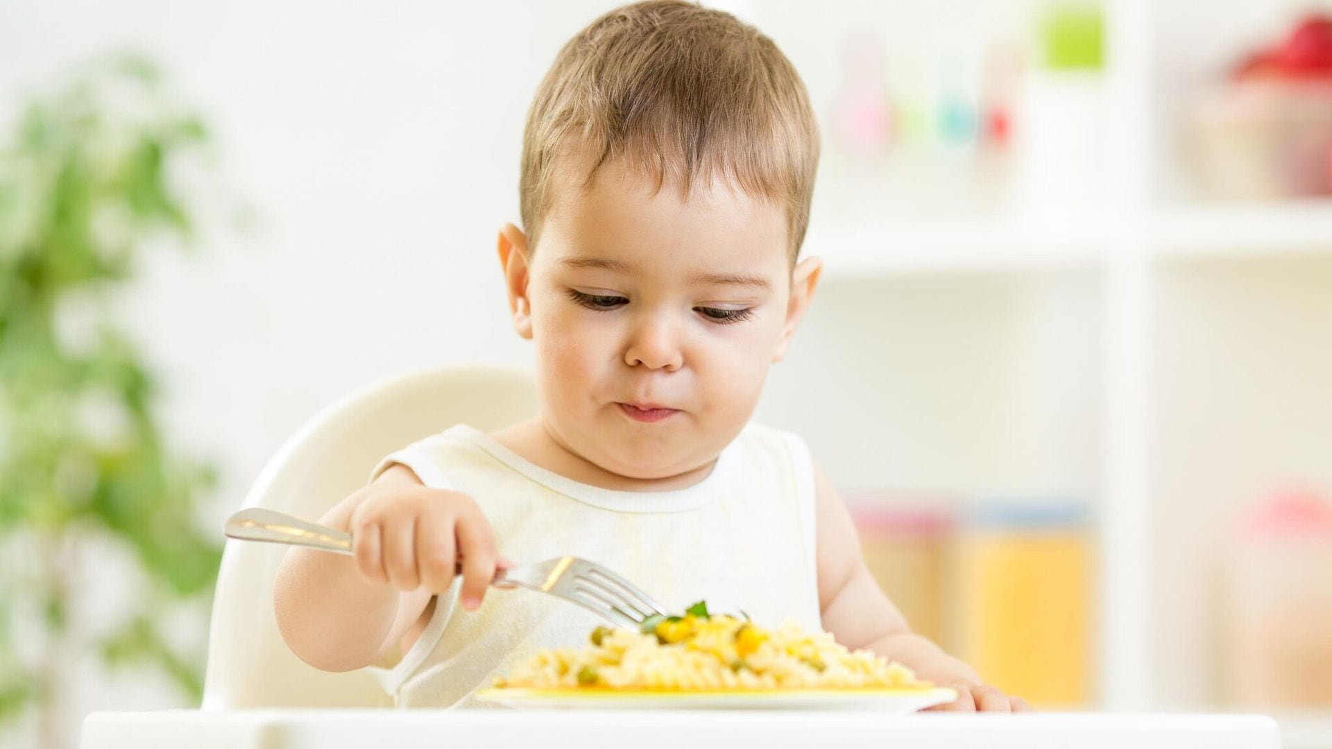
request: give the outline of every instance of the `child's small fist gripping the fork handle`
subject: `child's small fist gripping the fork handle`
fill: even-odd
[[[398,590],[444,593],[462,565],[462,605],[476,609],[496,569],[490,524],[472,497],[409,482],[376,482],[352,509],[352,556],[362,577]]]

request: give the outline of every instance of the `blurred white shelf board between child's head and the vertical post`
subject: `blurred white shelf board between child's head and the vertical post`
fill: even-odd
[[[1099,248],[1090,233],[976,219],[811,228],[802,253],[822,257],[829,277],[862,279],[1091,267]]]

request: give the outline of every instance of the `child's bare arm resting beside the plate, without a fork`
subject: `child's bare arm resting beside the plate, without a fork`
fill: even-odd
[[[814,466],[818,505],[819,606],[823,629],[847,648],[864,648],[912,669],[920,678],[954,686],[952,709],[1026,709],[1019,697],[1006,697],[986,686],[967,664],[911,632],[902,612],[883,593],[860,556],[851,514],[836,489]]]

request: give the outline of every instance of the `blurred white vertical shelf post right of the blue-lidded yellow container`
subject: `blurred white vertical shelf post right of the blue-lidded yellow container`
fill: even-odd
[[[1150,65],[1142,48],[1154,33],[1151,0],[1106,5],[1107,112],[1103,227],[1110,265],[1106,279],[1102,349],[1102,469],[1099,702],[1115,710],[1155,708],[1147,588],[1151,581],[1151,424],[1147,348],[1151,336],[1151,277],[1144,223],[1148,212]]]

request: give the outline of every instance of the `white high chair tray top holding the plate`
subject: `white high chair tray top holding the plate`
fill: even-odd
[[[254,710],[93,713],[83,749],[541,746],[695,749],[1280,749],[1260,716],[582,710]]]

